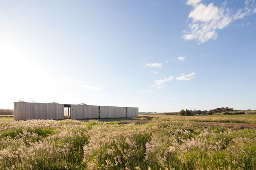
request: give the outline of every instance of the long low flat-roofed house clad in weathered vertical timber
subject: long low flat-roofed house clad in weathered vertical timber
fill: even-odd
[[[136,107],[91,106],[87,104],[59,104],[14,102],[14,120],[28,119],[101,119],[132,118],[138,116]]]

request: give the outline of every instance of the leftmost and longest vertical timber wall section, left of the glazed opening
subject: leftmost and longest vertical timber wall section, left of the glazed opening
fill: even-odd
[[[63,104],[14,102],[14,120],[64,119]]]

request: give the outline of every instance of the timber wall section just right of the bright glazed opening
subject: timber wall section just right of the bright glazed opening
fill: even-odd
[[[70,119],[96,119],[99,118],[99,106],[71,105]]]

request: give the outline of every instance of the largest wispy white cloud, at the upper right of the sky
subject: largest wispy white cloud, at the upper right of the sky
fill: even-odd
[[[215,6],[213,3],[206,5],[201,0],[187,0],[187,4],[193,7],[188,18],[191,19],[189,29],[184,31],[183,38],[185,40],[197,40],[203,43],[210,39],[217,38],[217,30],[223,29],[237,19],[242,19],[252,14],[252,6],[254,1],[246,1],[245,8],[231,11],[223,3],[221,7]],[[253,10],[256,12],[256,9]]]

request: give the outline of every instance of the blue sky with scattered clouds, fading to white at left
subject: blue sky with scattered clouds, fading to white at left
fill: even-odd
[[[256,0],[0,0],[0,108],[256,109]]]

